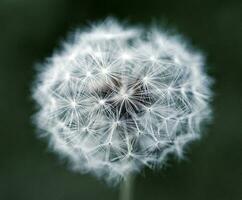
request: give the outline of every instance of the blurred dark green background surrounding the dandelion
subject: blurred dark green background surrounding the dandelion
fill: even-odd
[[[207,54],[216,79],[214,121],[205,136],[190,146],[187,160],[138,176],[135,199],[241,200],[241,0],[0,0],[0,199],[117,199],[118,189],[68,171],[30,120],[33,65],[70,30],[109,15],[175,27]]]

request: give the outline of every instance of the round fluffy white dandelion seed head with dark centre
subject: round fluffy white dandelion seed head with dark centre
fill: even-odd
[[[209,117],[203,56],[178,36],[106,20],[42,65],[40,134],[80,172],[118,181],[199,138]]]

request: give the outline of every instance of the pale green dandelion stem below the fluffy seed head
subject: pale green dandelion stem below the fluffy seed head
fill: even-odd
[[[128,175],[120,186],[120,200],[133,199],[134,176]]]

